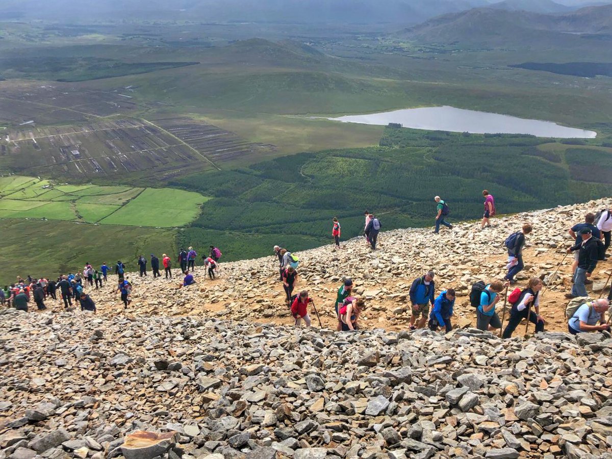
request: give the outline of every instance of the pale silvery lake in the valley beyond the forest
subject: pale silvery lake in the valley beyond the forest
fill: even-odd
[[[531,134],[538,137],[595,138],[596,132],[565,127],[550,121],[516,118],[485,111],[463,110],[452,106],[408,108],[364,115],[327,118],[334,121],[387,125],[400,123],[412,129],[471,132],[475,134]]]

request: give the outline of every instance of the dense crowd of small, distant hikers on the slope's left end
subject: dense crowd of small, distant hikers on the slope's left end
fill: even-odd
[[[181,248],[177,259],[179,261],[181,272],[184,274],[182,282],[177,286],[176,289],[186,287],[188,285],[195,284],[195,278],[193,278],[193,271],[195,269],[195,260],[198,254],[193,250],[193,247],[188,248],[188,252]],[[211,280],[215,279],[215,272],[217,271],[219,264],[218,261],[223,254],[221,251],[211,245],[211,252],[209,255],[204,255],[204,266],[208,269],[208,275]],[[140,268],[140,277],[147,275],[147,259],[143,255],[138,257],[138,267]],[[172,262],[168,255],[165,253],[162,255],[162,264],[164,267],[166,279],[172,278]],[[154,254],[151,254],[151,270],[153,277],[161,277],[159,271],[160,264],[159,258]],[[191,271],[189,271],[191,269]],[[128,305],[132,302],[130,296],[132,294],[133,285],[125,277],[125,264],[121,260],[117,260],[114,265],[113,272],[118,277],[116,293],[121,294],[121,301],[124,304],[124,308],[127,309]],[[17,282],[12,283],[10,286],[5,285],[4,288],[0,288],[0,304],[8,305],[9,307],[15,307],[18,310],[28,311],[28,304],[31,299],[34,299],[35,305],[38,310],[47,309],[45,300],[49,298],[57,300],[57,293],[60,294],[60,302],[64,303],[64,308],[70,310],[73,307],[73,301],[78,302],[83,312],[96,313],[96,307],[91,297],[84,293],[84,289],[91,287],[95,289],[102,288],[103,283],[108,282],[108,275],[111,274],[111,268],[106,264],[102,263],[99,269],[94,268],[90,263],[86,263],[82,273],[76,272],[75,274],[69,273],[67,275],[59,275],[54,280],[50,278],[47,280],[45,277],[39,279],[32,278],[30,275],[24,280],[21,277],[17,277]]]

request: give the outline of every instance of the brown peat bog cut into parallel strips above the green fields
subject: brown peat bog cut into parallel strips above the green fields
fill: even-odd
[[[221,170],[218,163],[266,147],[189,118],[106,119],[89,124],[6,129],[0,166],[20,174],[65,177],[170,179]]]

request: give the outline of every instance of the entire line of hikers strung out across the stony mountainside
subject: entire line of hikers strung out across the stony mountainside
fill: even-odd
[[[491,217],[496,213],[493,196],[487,191],[482,192],[484,201],[484,213],[480,230],[491,226]],[[452,230],[453,226],[446,221],[449,215],[449,206],[439,196],[434,198],[436,203],[435,231],[438,234],[441,226],[446,226]],[[374,214],[364,212],[364,237],[365,242],[376,250],[378,233],[382,228],[381,222]],[[334,237],[335,247],[340,247],[341,226],[337,217],[333,218],[332,236]],[[504,279],[492,280],[489,283],[482,281],[472,285],[470,294],[470,304],[476,308],[476,325],[480,330],[499,330],[502,337],[510,338],[518,327],[518,324],[526,319],[534,324],[535,332],[542,332],[545,328],[545,319],[540,315],[540,298],[543,294],[543,281],[539,277],[532,277],[523,288],[514,288],[509,294],[510,286],[517,283],[517,274],[524,268],[523,248],[526,245],[526,236],[532,232],[533,228],[529,223],[522,226],[520,231],[510,234],[504,242],[507,248],[507,274]],[[612,302],[612,288],[607,299],[600,298],[592,300],[588,297],[586,285],[592,283],[589,278],[595,267],[600,261],[605,261],[606,251],[610,247],[612,233],[612,209],[602,209],[594,214],[589,212],[584,217],[584,222],[573,225],[568,230],[569,235],[575,239],[574,244],[567,248],[567,254],[574,254],[572,265],[572,291],[565,296],[570,300],[565,314],[568,319],[568,331],[572,334],[595,330],[608,330],[610,326],[605,321],[605,312],[608,311]],[[602,240],[603,239],[603,240]],[[210,246],[210,254],[204,255],[204,266],[208,269],[209,278],[215,278],[215,271],[218,269],[218,260],[222,253],[217,247]],[[308,305],[313,305],[313,300],[308,296],[308,291],[300,291],[294,294],[294,287],[298,280],[297,267],[299,257],[286,248],[274,246],[274,253],[278,259],[278,280],[283,283],[285,291],[286,306],[291,309],[291,313],[296,319],[296,325],[300,326],[304,320],[307,326],[311,326],[312,321],[308,315]],[[566,256],[567,256],[566,254]],[[181,248],[177,261],[179,263],[184,279],[177,290],[196,283],[193,277],[196,258],[198,253],[193,247],[187,250]],[[565,259],[565,257],[564,257]],[[561,260],[557,271],[564,259]],[[140,255],[138,258],[140,276],[147,275],[147,259]],[[162,266],[165,271],[165,278],[172,278],[172,262],[168,255],[162,255]],[[151,270],[153,277],[161,277],[160,261],[157,256],[151,254]],[[100,269],[94,269],[87,263],[83,273],[61,275],[57,280],[47,280],[40,278],[32,279],[28,276],[27,280],[18,278],[17,283],[5,286],[0,289],[0,301],[6,302],[21,310],[28,310],[30,297],[34,299],[39,310],[45,309],[45,300],[48,297],[57,299],[56,292],[59,290],[61,301],[65,308],[72,307],[72,300],[78,300],[81,310],[96,312],[95,304],[83,289],[86,286],[99,289],[103,282],[107,282],[110,267],[103,263]],[[548,282],[553,282],[554,276],[548,278]],[[118,288],[116,293],[121,293],[121,300],[124,308],[130,304],[130,294],[132,284],[124,277],[125,264],[118,260],[114,266],[114,274],[118,275]],[[608,286],[610,277],[608,276]],[[444,329],[445,332],[452,330],[453,308],[455,305],[456,293],[453,288],[442,289],[436,296],[435,273],[428,271],[424,275],[417,277],[412,282],[409,289],[411,302],[411,316],[409,328],[411,330],[429,327],[431,330]],[[604,287],[605,289],[605,287]],[[544,289],[545,290],[545,289]],[[603,291],[603,289],[602,289]],[[503,299],[504,308],[502,318],[499,318],[496,308]],[[506,315],[506,304],[510,305],[509,317],[505,329],[501,330]],[[338,288],[337,298],[334,304],[335,316],[337,317],[337,330],[357,330],[359,329],[359,316],[365,310],[365,300],[353,294],[353,280],[343,278],[343,283]],[[319,319],[320,322],[320,319]]]

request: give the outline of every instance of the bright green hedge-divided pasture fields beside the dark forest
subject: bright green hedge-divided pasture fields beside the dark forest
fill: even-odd
[[[207,199],[173,188],[59,185],[34,177],[0,177],[0,218],[169,228],[192,222]]]

